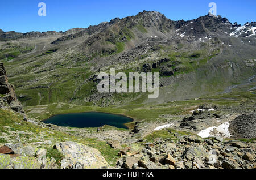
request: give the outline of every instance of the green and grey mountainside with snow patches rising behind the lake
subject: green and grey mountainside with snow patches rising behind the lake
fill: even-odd
[[[0,31],[0,61],[23,105],[147,103],[144,94],[100,94],[97,74],[159,72],[161,103],[214,95],[255,75],[255,22],[221,16],[173,21],[160,12],[66,32]]]

